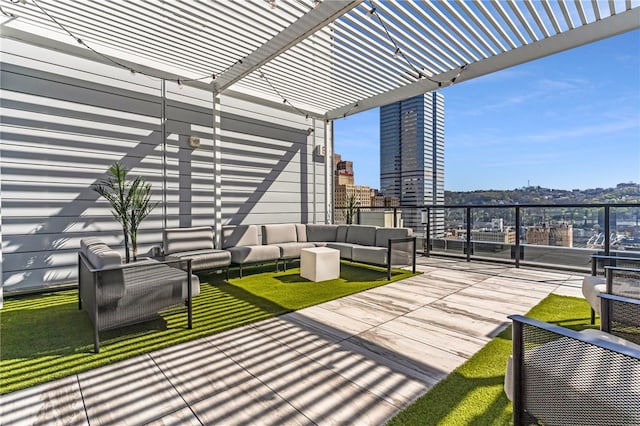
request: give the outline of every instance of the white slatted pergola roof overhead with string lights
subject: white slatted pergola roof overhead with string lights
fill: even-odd
[[[640,28],[640,1],[2,0],[4,36],[333,120]],[[160,64],[160,66],[158,66]]]

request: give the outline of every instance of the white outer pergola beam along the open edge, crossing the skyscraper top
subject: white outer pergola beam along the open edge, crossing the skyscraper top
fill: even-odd
[[[592,22],[589,25],[576,28],[573,31],[557,34],[547,39],[536,41],[519,47],[518,49],[510,50],[500,55],[470,64],[456,78],[456,82],[471,80],[534,59],[543,58],[639,28],[640,8],[631,9],[600,21]],[[458,73],[458,70],[452,70],[438,75],[438,80],[445,82],[442,85],[434,81],[422,79],[386,93],[358,100],[352,104],[327,112],[325,119],[334,120],[343,118],[346,115],[388,105],[422,93],[437,90],[441,87],[446,87],[448,85],[446,82],[450,82]]]

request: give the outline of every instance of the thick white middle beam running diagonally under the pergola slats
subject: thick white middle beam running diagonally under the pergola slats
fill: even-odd
[[[275,37],[216,76],[216,91],[222,92],[242,80],[276,56],[300,43],[335,19],[349,12],[364,0],[323,1]]]

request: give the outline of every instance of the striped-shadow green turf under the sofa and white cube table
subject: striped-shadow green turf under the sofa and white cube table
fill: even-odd
[[[228,282],[201,275],[193,300],[193,329],[184,310],[158,319],[100,333],[93,352],[93,327],[78,310],[76,290],[7,299],[0,310],[0,394],[86,371],[135,355],[274,317],[348,294],[387,284],[386,269],[341,264],[341,278],[314,283],[298,268],[264,272],[250,268]],[[391,280],[411,276],[395,270]]]

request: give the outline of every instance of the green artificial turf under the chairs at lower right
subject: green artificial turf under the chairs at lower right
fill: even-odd
[[[550,295],[527,316],[574,330],[589,324],[582,298]],[[504,373],[511,355],[511,326],[412,405],[388,426],[510,425],[513,407],[504,393]]]

